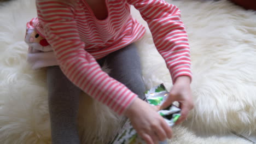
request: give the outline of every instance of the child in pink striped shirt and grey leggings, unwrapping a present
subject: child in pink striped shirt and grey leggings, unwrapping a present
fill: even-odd
[[[171,128],[143,101],[146,89],[133,42],[146,29],[131,17],[130,5],[147,21],[170,70],[173,87],[161,108],[179,101],[181,123],[193,102],[188,38],[177,7],[164,0],[37,0],[36,5],[38,17],[27,23],[28,62],[33,69],[47,67],[54,144],[79,143],[75,119],[81,91],[128,117],[147,143],[171,138]],[[33,45],[38,38],[44,46]],[[44,49],[48,44],[51,49]],[[100,67],[105,62],[109,75]]]

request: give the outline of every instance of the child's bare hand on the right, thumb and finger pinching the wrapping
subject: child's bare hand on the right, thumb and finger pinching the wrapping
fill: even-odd
[[[173,101],[178,101],[181,107],[181,117],[175,124],[183,122],[191,109],[193,109],[193,99],[190,89],[190,78],[188,76],[180,76],[177,78],[173,87],[171,88],[170,95],[166,101],[161,105],[161,109],[170,106]]]

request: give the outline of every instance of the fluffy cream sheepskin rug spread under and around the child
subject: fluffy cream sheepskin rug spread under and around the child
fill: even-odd
[[[201,133],[250,134],[256,130],[256,13],[229,1],[167,1],[182,10],[191,45],[194,110],[173,128],[171,143],[250,143]],[[26,63],[25,24],[36,16],[34,0],[0,4],[0,143],[51,143],[45,69]],[[132,14],[147,26],[138,11]],[[172,81],[146,33],[137,43],[147,88]],[[82,143],[102,143],[118,128],[120,117],[82,94],[79,134]]]

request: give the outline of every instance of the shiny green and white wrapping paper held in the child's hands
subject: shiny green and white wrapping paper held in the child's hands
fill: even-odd
[[[151,105],[161,105],[168,97],[168,92],[163,84],[150,88],[145,92],[147,102]],[[164,117],[166,123],[172,127],[181,116],[181,109],[171,105],[164,110],[158,111],[159,115]],[[130,121],[127,119],[123,127],[115,135],[110,144],[146,144],[132,128]]]

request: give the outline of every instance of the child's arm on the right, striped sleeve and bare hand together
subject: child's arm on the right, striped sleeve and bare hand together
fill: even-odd
[[[164,0],[125,1],[134,5],[148,23],[156,49],[165,59],[170,71],[173,87],[162,108],[169,106],[173,101],[179,101],[182,116],[178,123],[182,122],[193,108],[193,101],[190,91],[190,48],[181,12],[175,5]]]

